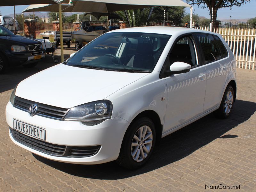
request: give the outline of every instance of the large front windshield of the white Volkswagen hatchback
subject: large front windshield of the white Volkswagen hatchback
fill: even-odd
[[[170,35],[106,33],[71,57],[66,65],[121,72],[151,72]]]

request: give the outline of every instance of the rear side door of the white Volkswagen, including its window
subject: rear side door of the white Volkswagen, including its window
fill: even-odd
[[[196,34],[201,46],[204,66],[206,69],[206,92],[204,112],[218,107],[228,71],[228,52],[218,36],[212,34]]]

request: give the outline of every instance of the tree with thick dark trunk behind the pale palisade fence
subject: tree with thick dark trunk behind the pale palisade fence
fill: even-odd
[[[217,11],[220,8],[224,7],[230,7],[232,6],[242,6],[246,2],[250,2],[251,0],[187,0],[188,3],[194,5],[197,4],[198,6],[201,6],[202,8],[208,7],[210,11],[210,17],[213,22],[213,27],[215,27],[215,23],[217,20]],[[213,8],[213,13],[212,13]]]

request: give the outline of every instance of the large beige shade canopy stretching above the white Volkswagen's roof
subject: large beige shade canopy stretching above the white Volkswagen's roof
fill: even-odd
[[[68,0],[61,0],[60,3],[68,4]],[[110,3],[111,2],[111,3]],[[73,6],[63,6],[63,12],[100,12],[110,13],[114,11],[139,9],[152,6],[182,6],[191,7],[191,5],[181,0],[73,0]],[[38,4],[30,5],[23,12],[33,11],[58,11],[57,4]]]

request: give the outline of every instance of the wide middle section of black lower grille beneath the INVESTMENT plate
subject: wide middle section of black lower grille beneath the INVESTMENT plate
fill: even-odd
[[[54,155],[54,156],[62,156],[66,150],[66,146],[63,145],[55,145],[52,143],[47,143],[43,140],[38,140],[32,137],[29,137],[21,132],[10,129],[12,133],[12,137],[20,142],[23,145],[26,145],[30,148],[33,148],[37,151],[41,151],[46,154]]]

